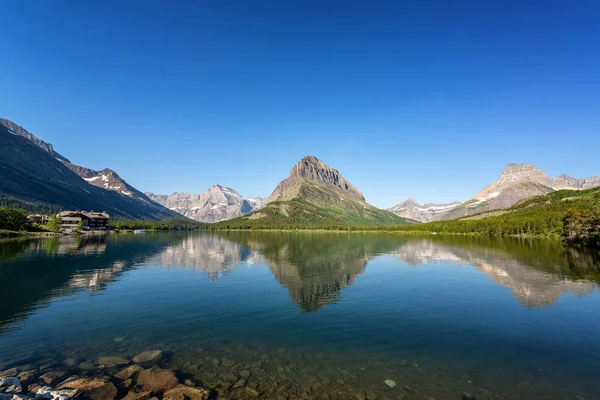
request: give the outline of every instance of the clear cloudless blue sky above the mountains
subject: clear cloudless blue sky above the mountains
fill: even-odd
[[[0,116],[142,191],[267,196],[308,154],[380,207],[600,175],[596,0],[1,9]]]

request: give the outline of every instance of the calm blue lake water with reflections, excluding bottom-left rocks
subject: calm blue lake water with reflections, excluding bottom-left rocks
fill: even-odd
[[[4,241],[0,370],[160,349],[162,367],[232,399],[248,372],[265,399],[596,399],[599,282],[597,253],[549,240]]]

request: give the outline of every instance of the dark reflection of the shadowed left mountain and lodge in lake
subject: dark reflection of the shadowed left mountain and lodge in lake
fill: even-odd
[[[177,236],[94,235],[1,241],[0,333],[55,297],[100,291]]]

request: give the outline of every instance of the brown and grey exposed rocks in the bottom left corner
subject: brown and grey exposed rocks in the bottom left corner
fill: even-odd
[[[0,400],[207,400],[218,393],[159,366],[163,352],[129,360],[101,357],[96,363],[66,359],[61,365],[20,365],[0,372]],[[245,384],[239,383],[241,388]],[[250,397],[258,397],[246,388]],[[253,396],[256,394],[256,396]]]

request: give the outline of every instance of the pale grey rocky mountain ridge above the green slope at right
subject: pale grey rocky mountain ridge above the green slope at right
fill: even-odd
[[[551,178],[530,164],[508,164],[500,177],[461,204],[419,204],[411,199],[390,209],[395,214],[421,222],[461,218],[509,208],[518,202],[556,190],[584,190],[600,186],[600,176],[584,179],[560,175]]]

